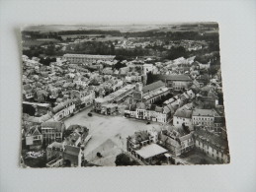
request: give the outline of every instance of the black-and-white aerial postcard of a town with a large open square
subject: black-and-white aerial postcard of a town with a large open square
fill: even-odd
[[[20,166],[230,162],[217,23],[21,29]]]

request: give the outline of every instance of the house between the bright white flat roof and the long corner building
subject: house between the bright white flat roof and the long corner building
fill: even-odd
[[[193,132],[186,127],[164,129],[159,133],[159,144],[170,154],[180,156],[194,148]]]

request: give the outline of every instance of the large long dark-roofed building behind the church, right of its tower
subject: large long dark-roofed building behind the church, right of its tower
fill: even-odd
[[[153,78],[165,82],[166,86],[174,91],[184,91],[192,85],[192,80],[187,75],[153,75]]]

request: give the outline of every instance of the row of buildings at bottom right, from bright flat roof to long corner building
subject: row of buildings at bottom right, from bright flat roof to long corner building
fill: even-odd
[[[193,150],[206,154],[216,163],[229,163],[226,138],[205,127],[190,131],[187,126],[165,126],[160,131],[135,132],[127,139],[128,153],[144,164],[190,163],[182,155]]]

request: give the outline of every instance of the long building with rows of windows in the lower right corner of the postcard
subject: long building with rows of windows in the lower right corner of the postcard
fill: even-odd
[[[213,160],[229,163],[229,150],[226,137],[213,134],[202,127],[197,127],[194,133],[195,147]]]

